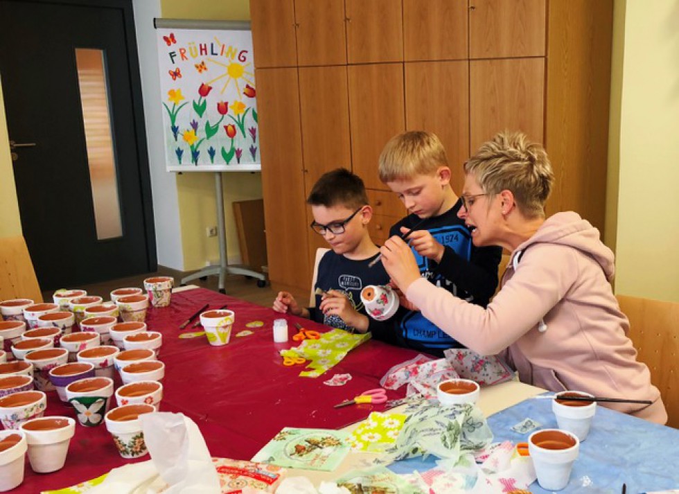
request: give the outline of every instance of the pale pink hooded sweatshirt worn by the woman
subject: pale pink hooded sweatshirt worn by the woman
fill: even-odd
[[[502,290],[475,306],[414,281],[407,297],[443,331],[482,355],[502,353],[527,384],[551,391],[652,400],[653,405],[601,403],[666,423],[660,391],[637,362],[609,280],[613,253],[599,230],[577,213],[557,213],[512,253]]]

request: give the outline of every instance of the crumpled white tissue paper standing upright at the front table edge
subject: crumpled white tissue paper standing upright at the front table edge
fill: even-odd
[[[149,461],[114,468],[88,494],[220,494],[217,471],[198,426],[184,416],[139,416]]]

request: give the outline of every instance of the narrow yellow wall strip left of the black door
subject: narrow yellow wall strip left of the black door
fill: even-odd
[[[5,100],[0,84],[0,238],[17,235],[21,235],[21,218],[7,135]]]

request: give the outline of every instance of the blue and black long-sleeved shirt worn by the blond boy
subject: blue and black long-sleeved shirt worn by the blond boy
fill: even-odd
[[[502,247],[473,245],[470,230],[464,220],[457,218],[461,204],[458,200],[446,213],[428,218],[417,227],[428,230],[445,247],[441,263],[420,256],[414,249],[413,254],[423,278],[455,297],[485,307],[497,288],[497,266],[502,258]],[[389,236],[401,235],[400,227],[412,228],[420,221],[417,215],[408,215],[391,227]],[[439,356],[443,356],[445,349],[461,346],[422,312],[399,308],[394,317],[396,339],[401,346]]]

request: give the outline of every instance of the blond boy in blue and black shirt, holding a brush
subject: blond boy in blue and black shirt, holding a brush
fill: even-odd
[[[407,240],[421,276],[485,307],[497,287],[502,248],[473,245],[473,231],[457,217],[462,200],[450,186],[448,158],[439,138],[429,132],[394,136],[382,150],[379,173],[410,212],[391,227],[390,236],[417,226]],[[393,320],[402,346],[439,356],[461,347],[415,307],[401,307]]]

